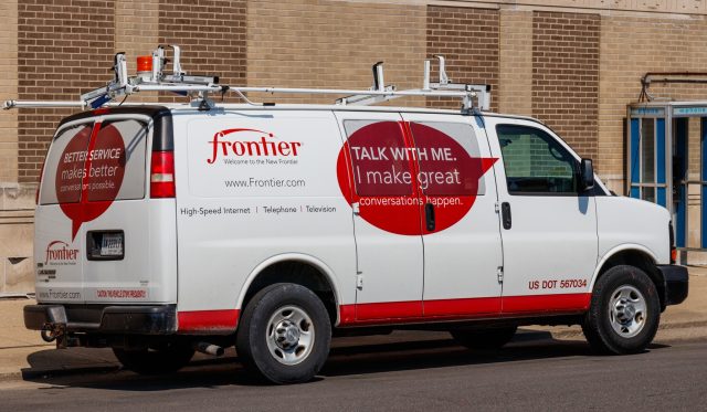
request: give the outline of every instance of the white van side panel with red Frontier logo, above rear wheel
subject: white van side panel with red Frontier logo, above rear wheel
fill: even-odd
[[[337,182],[331,112],[194,110],[173,122],[179,313],[241,309],[249,275],[284,253],[321,261],[341,303],[355,303],[352,211]]]

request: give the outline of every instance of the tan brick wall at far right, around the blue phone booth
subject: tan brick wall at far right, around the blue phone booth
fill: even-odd
[[[603,17],[601,21],[601,72],[599,102],[599,166],[623,193],[623,123],[625,107],[641,92],[640,78],[646,72],[704,72],[707,67],[707,20],[662,17]],[[655,84],[656,97],[705,99],[706,85]],[[698,177],[699,127],[690,122],[690,172]]]

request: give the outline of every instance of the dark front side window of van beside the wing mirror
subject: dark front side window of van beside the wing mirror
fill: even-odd
[[[510,194],[577,196],[577,160],[547,133],[527,126],[496,127]]]

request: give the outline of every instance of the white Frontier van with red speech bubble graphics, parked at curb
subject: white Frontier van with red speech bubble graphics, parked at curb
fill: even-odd
[[[538,120],[204,102],[62,120],[28,328],[140,373],[235,345],[289,383],[357,330],[499,348],[579,324],[598,351],[639,352],[687,296],[668,212],[610,193]]]

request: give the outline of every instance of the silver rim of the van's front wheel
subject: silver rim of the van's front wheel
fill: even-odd
[[[643,330],[647,319],[647,306],[643,294],[633,286],[619,286],[611,295],[609,319],[611,327],[624,338],[632,338]]]

